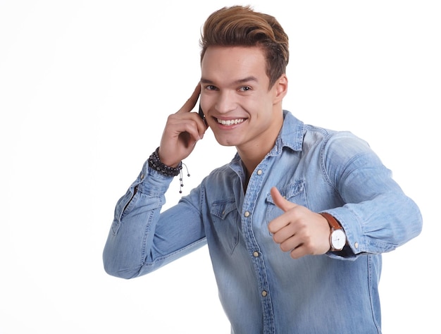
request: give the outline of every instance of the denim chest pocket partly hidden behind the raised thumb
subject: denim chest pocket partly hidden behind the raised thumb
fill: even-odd
[[[279,188],[278,190],[280,194],[285,197],[288,201],[299,204],[302,206],[308,207],[308,203],[306,202],[306,191],[305,191],[305,182],[304,180],[297,180],[293,183],[285,185],[285,187]],[[281,214],[283,214],[282,209],[278,208],[274,204],[273,197],[271,193],[266,195],[266,223],[268,224],[274,218],[277,218]]]

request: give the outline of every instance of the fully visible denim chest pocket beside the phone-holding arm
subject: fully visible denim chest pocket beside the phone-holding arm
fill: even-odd
[[[240,216],[234,198],[213,202],[210,206],[213,240],[229,254],[239,241]]]

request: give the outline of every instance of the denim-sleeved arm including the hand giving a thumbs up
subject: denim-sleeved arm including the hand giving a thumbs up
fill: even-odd
[[[331,254],[354,258],[359,254],[390,252],[421,232],[422,219],[416,204],[406,197],[390,171],[368,145],[348,133],[330,136],[321,148],[325,180],[343,206],[329,208],[347,235],[347,247]],[[273,240],[294,259],[330,250],[328,221],[304,206],[288,202],[274,188],[275,204],[284,214],[268,225]]]

